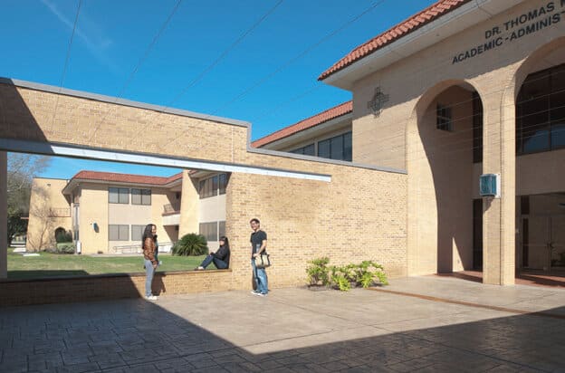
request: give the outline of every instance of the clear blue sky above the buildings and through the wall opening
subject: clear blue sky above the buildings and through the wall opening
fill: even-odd
[[[350,100],[317,81],[321,72],[433,3],[5,0],[0,76],[245,120],[259,139]],[[53,158],[41,176],[81,169],[177,172]]]

